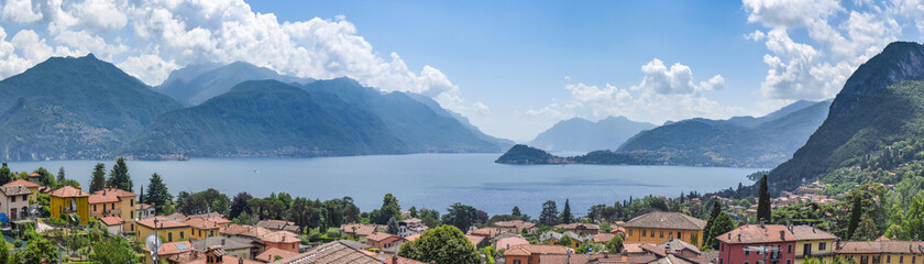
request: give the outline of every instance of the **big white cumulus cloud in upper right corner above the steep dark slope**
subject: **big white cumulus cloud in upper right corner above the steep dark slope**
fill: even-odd
[[[773,100],[833,97],[860,64],[899,38],[899,19],[924,18],[920,2],[904,0],[855,1],[847,7],[834,0],[743,0],[743,6],[748,22],[766,28],[745,38],[767,46],[768,70],[760,90]],[[919,30],[924,32],[924,26]],[[791,32],[809,37],[795,41]]]

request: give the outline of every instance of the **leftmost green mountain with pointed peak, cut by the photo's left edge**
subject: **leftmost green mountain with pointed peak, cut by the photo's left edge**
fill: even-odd
[[[48,58],[0,81],[0,160],[109,157],[178,108],[92,54]]]

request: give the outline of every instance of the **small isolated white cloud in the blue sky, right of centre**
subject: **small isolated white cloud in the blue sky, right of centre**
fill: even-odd
[[[676,63],[668,68],[657,58],[644,65],[641,72],[641,82],[628,89],[610,84],[603,87],[584,82],[566,84],[564,88],[570,91],[571,98],[553,100],[543,108],[530,109],[526,113],[557,120],[624,116],[635,120],[663,122],[694,117],[728,118],[745,112],[744,109],[725,107],[705,97],[704,92],[721,89],[725,85],[721,75],[695,82],[689,66]]]

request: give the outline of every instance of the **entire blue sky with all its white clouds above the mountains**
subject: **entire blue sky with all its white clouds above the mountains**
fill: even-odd
[[[148,85],[202,62],[429,96],[492,135],[662,123],[832,98],[921,0],[0,0],[0,77],[94,53]]]

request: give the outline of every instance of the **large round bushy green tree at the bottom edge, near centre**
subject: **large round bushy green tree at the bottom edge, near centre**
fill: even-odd
[[[481,263],[475,246],[458,228],[442,226],[424,232],[415,241],[404,243],[399,256],[426,263]]]

